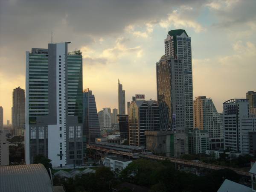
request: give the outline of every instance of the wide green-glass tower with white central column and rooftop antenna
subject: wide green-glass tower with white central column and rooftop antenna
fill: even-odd
[[[82,164],[82,55],[69,43],[26,52],[27,164],[37,154],[53,167]]]

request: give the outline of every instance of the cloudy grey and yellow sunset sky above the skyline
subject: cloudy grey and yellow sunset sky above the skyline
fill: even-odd
[[[228,99],[256,91],[255,0],[0,0],[0,106],[11,120],[12,91],[25,89],[25,52],[71,41],[83,55],[83,88],[97,110],[117,108],[117,79],[126,102],[157,99],[156,62],[169,30],[192,39],[193,94]]]

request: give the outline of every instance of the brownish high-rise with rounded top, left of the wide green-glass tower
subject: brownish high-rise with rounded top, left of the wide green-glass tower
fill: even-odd
[[[15,135],[17,129],[25,128],[25,90],[20,87],[12,92],[12,128]]]

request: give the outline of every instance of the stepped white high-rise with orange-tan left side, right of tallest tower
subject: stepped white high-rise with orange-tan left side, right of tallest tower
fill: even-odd
[[[194,101],[194,127],[207,130],[210,149],[224,148],[223,125],[212,99],[199,96]]]

